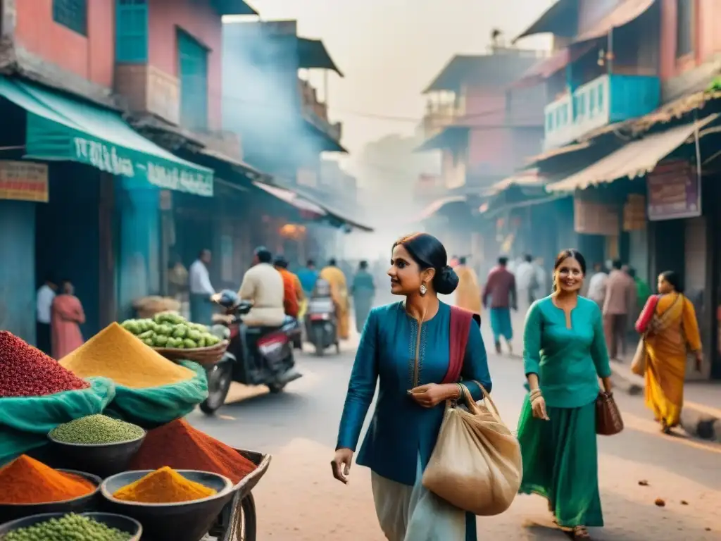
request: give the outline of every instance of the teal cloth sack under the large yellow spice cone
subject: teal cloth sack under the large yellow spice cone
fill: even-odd
[[[146,430],[185,417],[208,397],[208,379],[200,364],[191,361],[179,361],[179,364],[193,370],[195,375],[182,382],[143,389],[116,384],[115,399],[105,414]]]

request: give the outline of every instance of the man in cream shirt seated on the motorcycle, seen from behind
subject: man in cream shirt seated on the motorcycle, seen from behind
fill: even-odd
[[[273,255],[265,247],[255,249],[253,266],[243,276],[238,296],[253,303],[244,315],[248,327],[279,327],[286,319],[283,276],[273,267]]]

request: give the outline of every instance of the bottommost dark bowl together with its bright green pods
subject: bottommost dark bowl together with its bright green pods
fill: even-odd
[[[129,516],[111,513],[45,513],[0,524],[1,541],[58,539],[58,534],[71,532],[81,532],[84,539],[140,541],[143,527]]]

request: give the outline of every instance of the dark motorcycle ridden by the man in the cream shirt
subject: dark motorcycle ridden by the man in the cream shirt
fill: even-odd
[[[221,291],[213,302],[224,308],[225,315],[219,317],[223,323],[213,325],[211,332],[230,343],[223,359],[206,371],[208,398],[200,404],[203,413],[212,415],[225,403],[232,382],[265,384],[276,393],[303,376],[293,359],[293,343],[301,334],[298,320],[288,316],[278,327],[248,327],[242,316],[250,312],[251,302],[229,290]]]

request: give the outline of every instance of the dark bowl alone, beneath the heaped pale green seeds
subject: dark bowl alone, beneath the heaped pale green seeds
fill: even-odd
[[[142,436],[130,441],[112,444],[68,444],[48,434],[50,447],[56,451],[58,462],[63,467],[81,468],[94,475],[106,478],[128,469],[133,457],[145,439]]]

